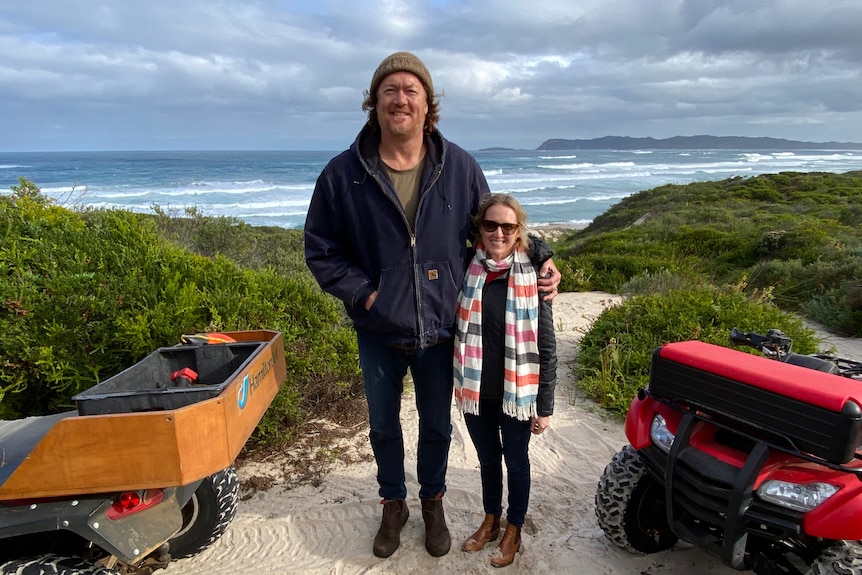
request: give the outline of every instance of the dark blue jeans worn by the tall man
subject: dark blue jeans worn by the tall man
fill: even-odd
[[[419,412],[416,475],[419,499],[446,492],[446,469],[452,438],[452,341],[425,349],[403,349],[357,332],[359,365],[368,400],[369,439],[377,461],[383,499],[406,499],[401,392],[410,368]]]

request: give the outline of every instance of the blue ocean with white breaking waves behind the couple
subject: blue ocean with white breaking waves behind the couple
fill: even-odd
[[[302,228],[314,183],[338,152],[6,152],[0,193],[24,177],[68,207],[239,218]],[[784,171],[862,170],[860,150],[486,150],[473,155],[493,192],[514,194],[531,225],[585,225],[664,184]]]

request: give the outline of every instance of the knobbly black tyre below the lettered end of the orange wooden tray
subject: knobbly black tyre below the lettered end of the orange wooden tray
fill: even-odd
[[[204,479],[183,507],[183,526],[168,543],[173,559],[197,555],[213,544],[236,515],[239,481],[233,467]]]

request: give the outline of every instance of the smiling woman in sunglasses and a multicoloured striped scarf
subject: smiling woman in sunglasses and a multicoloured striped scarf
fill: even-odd
[[[485,519],[462,545],[478,551],[500,533],[503,464],[508,471],[506,529],[491,565],[504,567],[521,548],[530,498],[530,434],[554,411],[557,344],[550,302],[539,296],[527,257],[527,215],[509,195],[479,206],[476,255],[458,296],[455,399],[464,412],[482,477]],[[546,257],[540,259],[547,259]]]

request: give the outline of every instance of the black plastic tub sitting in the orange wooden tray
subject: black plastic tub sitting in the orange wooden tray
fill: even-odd
[[[79,415],[178,409],[219,395],[265,342],[159,348],[135,365],[83,391],[72,400]],[[197,378],[171,381],[189,368]]]

